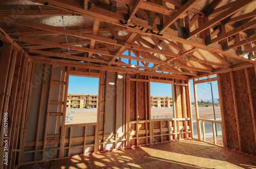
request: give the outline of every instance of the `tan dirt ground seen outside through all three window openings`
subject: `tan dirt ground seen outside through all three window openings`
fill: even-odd
[[[201,119],[214,119],[213,107],[198,107],[199,118]],[[70,115],[71,111],[75,111],[73,120],[70,120],[66,124],[82,124],[82,123],[96,123],[97,122],[97,108],[69,108],[67,109],[67,116]],[[192,107],[193,120],[196,120],[195,107]],[[221,118],[220,107],[215,107],[216,118]],[[151,108],[152,119],[164,119],[173,118],[173,108],[172,107],[152,107]]]

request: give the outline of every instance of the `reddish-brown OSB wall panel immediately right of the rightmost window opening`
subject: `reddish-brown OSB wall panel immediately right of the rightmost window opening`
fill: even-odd
[[[237,121],[234,114],[234,101],[229,73],[220,74],[220,83],[227,148],[238,150]]]

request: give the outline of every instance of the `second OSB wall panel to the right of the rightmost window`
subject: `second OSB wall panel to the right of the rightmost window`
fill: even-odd
[[[234,89],[236,90],[238,119],[240,125],[240,135],[242,151],[256,154],[256,146],[253,132],[253,124],[250,109],[250,100],[247,89],[245,70],[237,70],[233,73]]]

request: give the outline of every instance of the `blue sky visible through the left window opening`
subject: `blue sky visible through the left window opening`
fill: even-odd
[[[98,94],[99,78],[69,76],[68,93]]]

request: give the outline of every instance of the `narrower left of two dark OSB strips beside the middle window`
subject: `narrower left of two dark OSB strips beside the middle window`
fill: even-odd
[[[136,81],[130,85],[130,121],[136,120]]]

